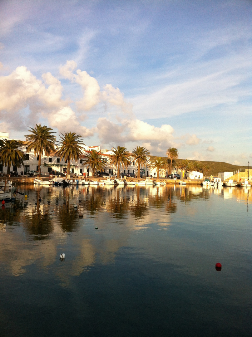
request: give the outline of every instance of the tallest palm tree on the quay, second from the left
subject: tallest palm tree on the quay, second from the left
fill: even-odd
[[[34,150],[34,156],[38,156],[38,172],[41,172],[41,158],[43,153],[46,156],[50,156],[51,152],[54,152],[54,146],[56,142],[56,136],[53,135],[55,133],[52,131],[53,129],[41,124],[35,126],[35,128],[31,129],[30,134],[26,134],[26,141],[28,142],[28,147],[26,152],[30,152]]]

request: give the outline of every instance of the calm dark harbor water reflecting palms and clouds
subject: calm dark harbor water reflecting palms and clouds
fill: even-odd
[[[0,209],[2,337],[251,337],[250,189],[19,191]]]

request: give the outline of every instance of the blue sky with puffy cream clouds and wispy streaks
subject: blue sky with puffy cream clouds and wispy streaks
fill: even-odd
[[[252,1],[0,1],[0,131],[252,163]]]

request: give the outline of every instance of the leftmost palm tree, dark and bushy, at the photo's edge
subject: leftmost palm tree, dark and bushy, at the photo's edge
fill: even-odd
[[[25,154],[19,149],[23,144],[21,141],[15,141],[14,139],[7,140],[6,138],[2,142],[0,149],[0,162],[7,166],[7,174],[10,174],[10,166],[21,167],[24,166]]]

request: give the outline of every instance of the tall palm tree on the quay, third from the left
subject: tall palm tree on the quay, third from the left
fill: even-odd
[[[57,144],[55,156],[60,156],[60,160],[63,158],[67,161],[67,174],[70,174],[70,160],[74,159],[78,161],[83,152],[83,147],[85,145],[81,141],[81,135],[75,132],[65,132],[61,133],[60,143]]]

